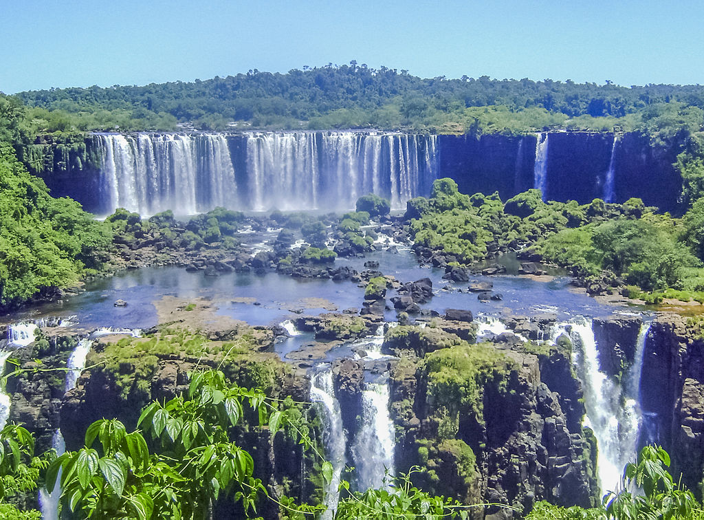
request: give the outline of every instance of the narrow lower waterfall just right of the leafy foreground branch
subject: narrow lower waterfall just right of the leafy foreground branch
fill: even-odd
[[[332,384],[332,367],[320,365],[310,380],[310,400],[315,403],[322,416],[324,425],[323,442],[325,455],[332,464],[332,479],[325,488],[325,506],[327,510],[320,516],[323,520],[331,520],[337,509],[342,470],[345,466],[346,437],[342,428],[340,404],[335,397]]]

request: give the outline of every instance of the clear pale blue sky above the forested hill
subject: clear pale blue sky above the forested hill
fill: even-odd
[[[0,92],[358,63],[425,78],[704,83],[704,2],[0,0]]]

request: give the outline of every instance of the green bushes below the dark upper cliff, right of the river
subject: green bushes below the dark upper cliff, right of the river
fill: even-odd
[[[632,298],[704,300],[704,203],[683,218],[657,214],[641,199],[624,204],[543,202],[528,190],[503,204],[498,195],[458,192],[451,179],[434,182],[429,199],[408,202],[406,219],[419,254],[472,264],[494,251],[520,249],[565,266],[574,276],[625,283]]]

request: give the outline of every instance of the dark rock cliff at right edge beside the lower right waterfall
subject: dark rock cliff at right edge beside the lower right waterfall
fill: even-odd
[[[660,316],[646,341],[641,376],[643,440],[670,452],[672,473],[699,495],[704,477],[704,340],[686,318]]]

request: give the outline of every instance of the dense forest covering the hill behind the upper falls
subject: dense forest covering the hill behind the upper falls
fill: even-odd
[[[145,86],[50,89],[8,98],[27,130],[380,128],[475,134],[546,128],[641,130],[673,137],[704,124],[699,85],[417,78],[406,70],[303,67]],[[192,126],[191,126],[192,125]]]

